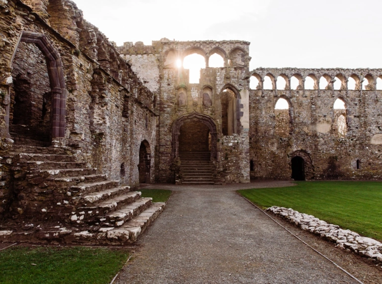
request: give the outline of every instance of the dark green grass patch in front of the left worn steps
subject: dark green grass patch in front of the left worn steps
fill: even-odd
[[[108,284],[127,258],[107,248],[15,247],[0,252],[0,283]]]

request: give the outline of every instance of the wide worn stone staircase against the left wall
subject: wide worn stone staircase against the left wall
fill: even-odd
[[[141,197],[76,162],[63,148],[15,145],[7,159],[16,198],[0,240],[123,245],[163,211],[163,202]]]

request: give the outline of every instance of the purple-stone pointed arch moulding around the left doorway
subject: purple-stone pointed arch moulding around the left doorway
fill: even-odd
[[[20,42],[35,44],[45,56],[52,92],[51,143],[55,145],[63,145],[65,144],[66,98],[68,91],[65,86],[64,71],[60,54],[44,34],[22,31],[15,46],[10,66],[12,65],[12,61],[16,55]],[[7,107],[7,116],[9,117],[9,106]],[[9,123],[7,123],[7,128],[9,129]]]

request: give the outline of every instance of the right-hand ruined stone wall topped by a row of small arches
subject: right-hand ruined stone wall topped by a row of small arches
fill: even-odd
[[[381,179],[382,91],[376,90],[376,81],[382,70],[261,68],[251,74],[260,78],[260,88],[250,91],[251,178],[288,179],[291,158],[300,156],[309,172],[307,179]],[[285,76],[286,90],[263,90],[267,74]],[[293,75],[299,78],[300,90],[289,88]],[[313,78],[316,89],[319,78],[325,76],[321,79],[327,80],[325,90],[304,90],[307,76]],[[348,90],[349,77],[355,79],[358,90]],[[334,80],[341,81],[342,90],[333,90]],[[275,104],[280,97],[290,106],[289,135],[277,125],[280,110],[275,110]],[[345,102],[346,110],[333,109],[337,98]],[[337,119],[343,113],[347,133],[341,137]]]

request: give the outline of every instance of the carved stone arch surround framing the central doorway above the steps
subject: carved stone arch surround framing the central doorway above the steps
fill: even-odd
[[[180,135],[180,130],[184,122],[186,121],[192,121],[192,120],[197,120],[209,128],[210,134],[211,134],[211,160],[216,160],[217,156],[217,126],[216,122],[213,120],[212,117],[198,113],[196,111],[193,111],[188,114],[183,114],[178,119],[176,119],[173,123],[172,127],[172,140],[171,140],[171,145],[172,145],[172,158],[175,159],[179,157],[179,135]]]

